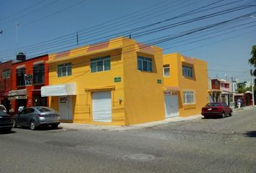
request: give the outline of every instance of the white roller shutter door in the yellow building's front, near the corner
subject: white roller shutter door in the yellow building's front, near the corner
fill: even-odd
[[[93,92],[93,121],[111,122],[111,92]]]

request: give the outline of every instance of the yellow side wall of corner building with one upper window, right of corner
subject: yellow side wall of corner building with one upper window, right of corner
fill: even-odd
[[[127,125],[163,120],[163,55],[161,48],[154,53],[135,52],[134,40],[124,41],[124,105]],[[153,59],[153,72],[137,70],[137,56]],[[160,79],[161,84],[157,83]]]

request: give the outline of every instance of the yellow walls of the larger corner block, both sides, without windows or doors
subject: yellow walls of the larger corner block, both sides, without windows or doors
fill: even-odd
[[[77,95],[73,96],[74,123],[102,125],[132,125],[164,119],[163,103],[163,60],[162,50],[152,48],[154,72],[137,71],[137,55],[148,56],[147,51],[138,49],[135,40],[119,37],[110,40],[108,48],[88,50],[88,46],[70,50],[68,56],[49,56],[49,84],[75,82]],[[140,51],[139,51],[140,50]],[[140,52],[140,53],[138,53]],[[146,55],[145,55],[146,53]],[[111,70],[90,73],[90,58],[111,56]],[[72,76],[57,77],[60,63],[72,63]],[[121,77],[120,82],[114,82]],[[162,81],[157,84],[157,80]],[[112,122],[93,122],[92,92],[111,91]],[[50,106],[58,110],[58,97],[50,98]]]

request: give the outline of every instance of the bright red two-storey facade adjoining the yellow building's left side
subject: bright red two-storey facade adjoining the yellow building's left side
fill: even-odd
[[[14,114],[18,107],[48,106],[47,97],[40,96],[41,86],[48,85],[48,55],[12,64],[12,91],[8,99]]]

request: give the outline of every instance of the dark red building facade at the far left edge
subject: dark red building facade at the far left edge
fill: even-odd
[[[11,105],[8,92],[12,90],[12,61],[0,63],[0,103],[9,112]]]

